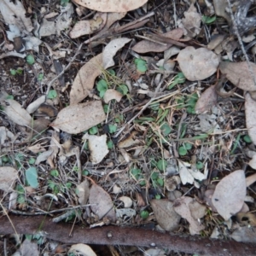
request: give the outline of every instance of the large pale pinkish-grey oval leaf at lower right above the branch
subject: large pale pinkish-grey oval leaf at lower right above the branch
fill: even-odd
[[[212,204],[225,220],[241,210],[247,194],[245,174],[242,170],[231,172],[216,186]]]

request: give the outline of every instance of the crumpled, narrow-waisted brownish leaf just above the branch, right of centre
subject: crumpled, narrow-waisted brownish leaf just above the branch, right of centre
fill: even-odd
[[[187,219],[189,222],[189,233],[190,235],[200,234],[201,230],[205,229],[203,224],[200,224],[197,219],[193,218],[192,213],[189,209],[189,204],[194,201],[193,198],[189,196],[183,196],[181,198],[177,198],[176,201],[173,202],[174,210],[179,214],[182,218]]]

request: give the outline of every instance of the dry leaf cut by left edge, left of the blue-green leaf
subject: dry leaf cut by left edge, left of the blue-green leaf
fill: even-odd
[[[18,172],[15,168],[10,166],[0,167],[0,189],[5,192],[9,192],[12,186],[15,184],[15,180],[18,178]]]

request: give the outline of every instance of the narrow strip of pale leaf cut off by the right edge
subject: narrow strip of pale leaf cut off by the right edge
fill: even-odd
[[[249,93],[245,95],[245,114],[248,135],[251,137],[254,144],[256,144],[256,101],[252,99]]]

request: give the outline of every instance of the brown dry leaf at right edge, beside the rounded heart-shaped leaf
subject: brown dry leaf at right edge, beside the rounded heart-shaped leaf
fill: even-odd
[[[255,76],[256,65],[253,62],[249,63]],[[256,90],[256,86],[253,81],[253,75],[250,73],[247,61],[236,63],[221,61],[219,64],[219,69],[221,73],[226,75],[226,78],[229,79],[232,84],[241,90]]]

